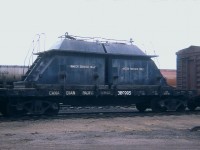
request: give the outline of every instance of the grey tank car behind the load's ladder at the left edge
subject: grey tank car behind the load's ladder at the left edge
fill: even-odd
[[[27,66],[0,66],[0,87],[12,85],[13,82],[21,80],[22,76],[28,70]]]

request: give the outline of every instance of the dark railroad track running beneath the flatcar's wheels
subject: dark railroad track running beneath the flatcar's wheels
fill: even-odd
[[[114,118],[114,117],[155,117],[155,116],[180,116],[180,115],[200,115],[200,109],[195,111],[186,110],[184,112],[152,112],[150,109],[139,112],[134,106],[106,106],[106,107],[71,107],[63,106],[58,115],[34,115],[20,117],[4,117],[0,115],[0,122],[5,121],[25,121],[25,120],[45,120],[45,119],[71,119],[71,118]]]

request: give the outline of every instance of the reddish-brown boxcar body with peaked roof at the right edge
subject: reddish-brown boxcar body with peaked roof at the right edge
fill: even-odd
[[[177,88],[200,94],[200,47],[190,46],[177,53]]]

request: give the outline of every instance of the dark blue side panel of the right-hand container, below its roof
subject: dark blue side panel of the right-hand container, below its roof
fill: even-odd
[[[165,85],[162,75],[151,59],[111,60],[109,79],[112,84],[127,85]]]

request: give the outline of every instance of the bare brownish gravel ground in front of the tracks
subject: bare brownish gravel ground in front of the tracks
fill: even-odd
[[[200,149],[200,114],[0,122],[1,150]]]

